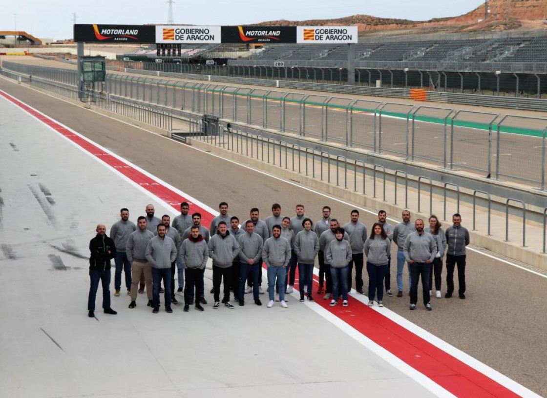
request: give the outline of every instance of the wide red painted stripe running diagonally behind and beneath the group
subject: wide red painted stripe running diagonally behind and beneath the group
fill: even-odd
[[[0,91],[0,94],[75,144],[84,148],[109,167],[114,168],[131,181],[166,201],[166,203],[173,206],[176,210],[179,210],[181,201],[188,201],[146,174],[141,173],[141,171],[133,169],[129,164],[120,161],[120,159],[103,151],[98,146],[74,134],[71,130],[61,126],[51,118],[39,114],[39,112],[2,91]],[[200,211],[203,221],[207,222],[207,224],[205,222],[203,224],[208,225],[213,215],[199,206],[194,204],[192,206],[192,211]],[[313,284],[313,290],[316,291],[318,288],[317,277],[314,277]],[[403,328],[403,326],[386,318],[380,312],[371,310],[371,308],[351,296],[348,297],[348,301],[350,303],[348,307],[342,307],[340,304],[330,307],[329,300],[322,300],[322,298],[318,298],[316,303],[456,396],[519,396],[478,370],[475,370],[473,367],[424,340],[422,337],[415,335]]]

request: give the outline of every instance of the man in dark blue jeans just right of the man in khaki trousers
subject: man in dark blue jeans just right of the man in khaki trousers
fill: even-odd
[[[153,283],[153,313],[158,313],[160,307],[160,283],[164,280],[165,286],[165,311],[171,310],[171,263],[177,258],[177,248],[174,241],[165,235],[165,225],[158,224],[158,236],[154,236],[148,242],[145,257],[152,264]]]

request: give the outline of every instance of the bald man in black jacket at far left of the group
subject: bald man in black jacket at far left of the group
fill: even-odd
[[[97,225],[97,235],[89,241],[89,278],[91,281],[89,287],[88,316],[95,317],[95,296],[99,281],[103,287],[103,309],[106,314],[117,314],[110,308],[110,260],[116,256],[116,247],[114,240],[106,236],[106,225]]]

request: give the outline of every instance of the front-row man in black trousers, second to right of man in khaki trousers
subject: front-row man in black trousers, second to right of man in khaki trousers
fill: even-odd
[[[184,287],[184,310],[188,311],[190,303],[194,301],[194,287],[197,297],[203,295],[203,270],[207,264],[209,251],[207,243],[200,235],[197,225],[190,227],[190,236],[183,240],[178,251],[178,259],[184,266],[186,286]],[[196,301],[196,310],[203,311],[199,301]]]

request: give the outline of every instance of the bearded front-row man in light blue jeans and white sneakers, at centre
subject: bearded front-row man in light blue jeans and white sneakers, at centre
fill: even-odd
[[[290,260],[290,243],[281,236],[281,225],[276,224],[272,227],[272,236],[266,239],[262,247],[262,258],[268,271],[268,308],[274,306],[274,287],[277,281],[277,291],[279,292],[280,304],[287,308],[285,302],[284,282],[287,275],[287,265]]]

